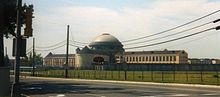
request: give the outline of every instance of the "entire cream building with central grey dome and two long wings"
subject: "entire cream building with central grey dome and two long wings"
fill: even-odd
[[[45,66],[64,66],[65,54],[49,53],[44,58]],[[127,51],[122,43],[110,34],[97,36],[88,46],[77,48],[69,55],[69,66],[77,69],[104,69],[117,63],[187,64],[188,54],[184,50]]]

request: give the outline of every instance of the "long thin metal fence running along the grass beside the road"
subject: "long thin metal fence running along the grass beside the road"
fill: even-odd
[[[220,65],[129,64],[106,70],[68,70],[68,78],[220,85]],[[64,69],[38,68],[36,76],[65,77]]]

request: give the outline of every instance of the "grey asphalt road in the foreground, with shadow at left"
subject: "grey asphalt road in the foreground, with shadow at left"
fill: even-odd
[[[220,86],[21,78],[31,97],[220,97]]]

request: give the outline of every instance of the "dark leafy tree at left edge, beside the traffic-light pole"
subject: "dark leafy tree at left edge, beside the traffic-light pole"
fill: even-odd
[[[4,36],[9,34],[15,36],[16,27],[16,0],[0,1],[0,67],[5,66],[4,62]]]

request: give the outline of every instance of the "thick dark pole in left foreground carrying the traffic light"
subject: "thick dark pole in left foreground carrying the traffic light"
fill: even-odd
[[[20,73],[20,49],[21,49],[21,10],[22,0],[17,0],[17,34],[16,34],[16,57],[14,66],[14,83],[12,85],[11,97],[20,97],[19,73]]]

